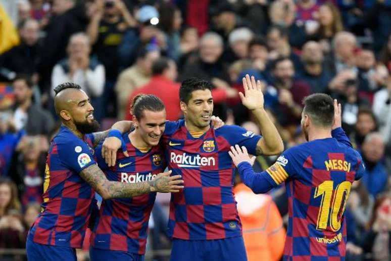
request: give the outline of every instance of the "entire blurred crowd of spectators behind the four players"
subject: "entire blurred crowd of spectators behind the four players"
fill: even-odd
[[[181,118],[180,81],[199,77],[214,85],[214,115],[259,134],[238,97],[249,73],[263,82],[286,148],[305,142],[305,96],[327,93],[342,104],[343,127],[366,165],[346,204],[347,259],[390,260],[390,32],[389,0],[0,0],[0,259],[25,259],[7,249],[25,247],[40,211],[45,156],[60,124],[56,85],[78,83],[107,129],[131,118],[138,93],[159,96],[167,118]],[[259,156],[254,168],[275,159]],[[279,260],[284,187],[256,196],[236,183],[249,259]],[[169,197],[158,196],[147,259],[169,256]],[[80,260],[86,250],[88,242]]]

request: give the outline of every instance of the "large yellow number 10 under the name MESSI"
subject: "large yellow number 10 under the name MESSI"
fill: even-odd
[[[318,213],[318,222],[316,224],[317,230],[326,230],[329,220],[332,231],[338,231],[341,228],[340,218],[345,211],[346,201],[348,199],[352,183],[349,181],[340,183],[335,188],[334,195],[332,195],[333,185],[333,181],[324,181],[316,187],[314,198],[322,197]],[[342,200],[344,200],[344,202],[342,202]]]

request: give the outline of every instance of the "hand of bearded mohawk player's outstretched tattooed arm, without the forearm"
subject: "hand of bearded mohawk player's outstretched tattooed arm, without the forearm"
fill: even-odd
[[[180,189],[183,189],[183,180],[180,180],[182,176],[176,175],[170,177],[172,170],[159,173],[158,176],[150,181],[151,192],[179,192]]]

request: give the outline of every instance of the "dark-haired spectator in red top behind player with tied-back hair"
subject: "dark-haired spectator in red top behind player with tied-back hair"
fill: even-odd
[[[176,64],[172,59],[159,58],[152,65],[151,80],[134,91],[129,99],[129,103],[125,107],[125,115],[127,120],[131,120],[130,106],[133,98],[139,94],[152,94],[159,97],[166,107],[167,120],[175,121],[181,118],[182,112],[179,107],[180,83],[176,83],[178,72]]]

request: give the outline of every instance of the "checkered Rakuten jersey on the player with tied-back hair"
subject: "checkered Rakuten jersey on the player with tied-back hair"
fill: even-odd
[[[129,157],[117,152],[115,166],[108,167],[101,155],[102,145],[96,148],[99,166],[109,181],[137,183],[151,181],[166,168],[160,145],[150,149],[136,148],[123,135]],[[148,222],[156,193],[131,198],[104,200],[97,217],[90,243],[95,248],[144,254]]]

